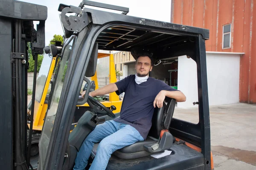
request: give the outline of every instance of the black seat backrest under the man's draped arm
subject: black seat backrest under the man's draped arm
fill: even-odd
[[[163,102],[162,108],[156,107],[154,109],[154,114],[152,117],[152,126],[148,133],[148,136],[152,136],[156,139],[159,138],[161,130],[169,130],[175,109],[175,99],[166,97],[165,101],[167,102],[167,105],[165,102]]]

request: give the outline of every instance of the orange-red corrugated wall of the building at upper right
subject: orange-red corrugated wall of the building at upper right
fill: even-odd
[[[256,103],[256,0],[172,0],[172,22],[209,29],[207,51],[244,52],[239,99]],[[223,25],[229,23],[231,48],[222,49]]]

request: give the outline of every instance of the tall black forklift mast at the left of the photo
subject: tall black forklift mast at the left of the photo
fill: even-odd
[[[30,43],[35,63],[45,46],[47,7],[0,2],[0,167],[27,170],[27,69]],[[37,30],[33,21],[39,21]],[[34,73],[36,74],[36,72]],[[35,82],[34,82],[35,83]]]

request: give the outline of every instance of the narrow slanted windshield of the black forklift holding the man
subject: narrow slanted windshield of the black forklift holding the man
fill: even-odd
[[[44,166],[44,161],[47,154],[47,149],[49,146],[49,140],[52,134],[52,128],[55,122],[55,117],[58,109],[59,99],[61,97],[61,91],[63,88],[64,78],[67,72],[67,65],[69,62],[69,57],[71,54],[73,40],[65,47],[60,64],[58,65],[58,73],[55,82],[55,86],[52,93],[52,100],[49,103],[49,110],[47,111],[47,116],[44,120],[44,127],[41,134],[41,139],[39,142],[39,161],[41,166]]]

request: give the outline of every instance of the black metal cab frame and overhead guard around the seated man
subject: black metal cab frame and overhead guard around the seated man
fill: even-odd
[[[66,8],[76,8],[76,10],[78,10],[78,7],[74,6],[67,6]],[[65,13],[70,9],[64,8],[62,12]],[[61,169],[64,162],[64,154],[71,121],[74,116],[79,95],[79,87],[81,87],[81,79],[85,74],[93,44],[99,43],[99,49],[103,50],[132,51],[133,48],[142,48],[145,46],[153,48],[152,45],[150,46],[148,44],[154,44],[155,41],[162,44],[159,45],[158,48],[151,49],[154,53],[162,50],[159,55],[155,56],[156,59],[188,55],[197,63],[199,123],[194,125],[174,119],[170,131],[174,136],[177,135],[177,137],[201,147],[202,154],[204,155],[205,169],[210,169],[209,104],[205,52],[205,40],[209,39],[209,30],[131,17],[122,14],[114,14],[89,8],[84,8],[82,12],[86,12],[88,15],[88,23],[84,23],[84,28],[81,31],[77,31],[78,29],[76,29],[81,28],[83,23],[74,22],[75,25],[70,25],[70,27],[74,28],[79,34],[76,46],[73,49],[73,63],[71,63],[70,68],[68,68],[69,75],[64,82],[63,91],[65,91],[65,93],[61,94],[60,105],[57,111],[58,117],[56,117],[57,121],[55,122],[51,137],[52,139],[49,144],[52,150],[49,150],[48,152],[48,155],[50,156],[47,156],[44,169],[48,170],[53,167],[55,169]],[[61,15],[61,17],[65,16]],[[65,17],[65,20],[66,19],[67,18]],[[69,20],[72,20],[72,17],[69,17]],[[62,21],[64,21],[64,18],[62,18]],[[111,31],[113,31],[111,32],[109,28],[115,30],[113,31],[111,29]],[[107,36],[102,36],[102,34],[106,34],[104,32],[107,31],[111,35],[107,34]],[[118,36],[113,36],[112,33],[114,33],[113,35]],[[130,39],[133,43],[130,43],[129,39],[125,36],[134,37],[134,39]],[[102,39],[102,37],[104,37],[104,39]],[[138,39],[138,37],[140,39]],[[136,40],[136,38],[138,40]],[[128,40],[128,42],[123,43],[119,40]],[[102,43],[104,41],[107,41],[108,43]],[[138,44],[131,48],[131,45],[135,44],[134,41],[138,41]],[[117,42],[117,45],[110,46],[110,44],[115,42]],[[130,43],[130,45],[128,45],[128,43]],[[166,46],[166,44],[168,44],[168,46]],[[167,54],[169,55],[167,56]],[[59,129],[59,127],[62,128]],[[63,132],[66,132],[66,134],[63,134]],[[58,142],[56,143],[56,141]]]

